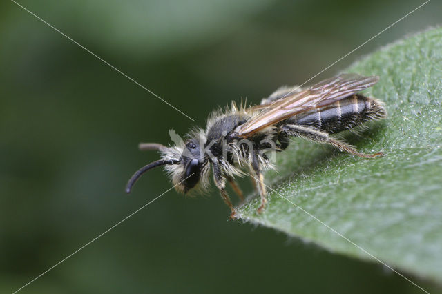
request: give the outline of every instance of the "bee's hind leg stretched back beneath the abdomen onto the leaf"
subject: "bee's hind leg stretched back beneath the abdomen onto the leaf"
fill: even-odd
[[[305,137],[307,139],[310,139],[311,141],[316,141],[319,143],[327,143],[330,144],[336,148],[338,148],[341,151],[346,151],[348,153],[351,153],[353,155],[357,155],[359,157],[364,158],[374,158],[377,156],[383,155],[383,153],[378,152],[374,154],[365,154],[361,153],[349,144],[344,143],[343,141],[338,141],[336,139],[332,139],[329,137],[328,133],[322,132],[320,130],[316,130],[314,128],[309,128],[305,126],[298,126],[294,124],[288,124],[285,126],[280,127],[282,131],[285,131],[287,135],[296,136],[296,137]]]

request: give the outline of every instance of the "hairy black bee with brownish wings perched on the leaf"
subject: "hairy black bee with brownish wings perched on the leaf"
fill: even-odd
[[[186,141],[176,146],[140,144],[141,150],[157,150],[161,159],[137,170],[128,181],[126,193],[131,193],[142,174],[157,166],[165,166],[177,192],[204,192],[209,187],[212,170],[213,182],[229,206],[231,218],[235,218],[226,183],[229,182],[244,200],[233,178],[247,175],[244,170],[249,170],[260,195],[258,213],[261,213],[267,204],[263,172],[275,168],[267,156],[268,151],[285,150],[292,137],[329,144],[358,157],[383,155],[381,152],[361,153],[331,136],[386,117],[383,102],[359,93],[378,80],[377,76],[342,74],[306,89],[297,86],[279,88],[256,106],[238,107],[232,103],[224,111],[215,110],[209,116],[205,130],[194,128],[186,136]]]

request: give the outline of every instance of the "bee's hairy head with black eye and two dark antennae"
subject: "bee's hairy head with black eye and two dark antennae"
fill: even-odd
[[[204,159],[202,150],[200,149],[200,142],[198,139],[189,139],[186,143],[179,146],[166,147],[161,144],[140,144],[141,150],[158,150],[162,154],[162,159],[148,164],[129,179],[126,186],[126,193],[131,193],[133,184],[141,177],[147,170],[156,166],[164,166],[166,172],[169,173],[175,190],[180,193],[188,193],[189,190],[197,186],[201,182],[202,188],[208,186],[206,179],[209,165]]]

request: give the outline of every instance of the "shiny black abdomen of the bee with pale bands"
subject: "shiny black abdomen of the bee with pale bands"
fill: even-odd
[[[338,133],[365,121],[381,119],[385,115],[385,109],[380,101],[356,94],[334,104],[289,117],[285,123],[312,126],[327,133]]]

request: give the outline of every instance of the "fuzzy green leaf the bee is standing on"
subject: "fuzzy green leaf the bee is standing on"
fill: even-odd
[[[385,102],[387,119],[343,139],[385,156],[361,159],[294,139],[277,155],[278,173],[266,174],[274,191],[265,213],[256,213],[255,197],[238,214],[374,260],[358,244],[399,271],[442,281],[442,30],[393,43],[344,72],[381,78],[366,93]]]

